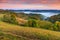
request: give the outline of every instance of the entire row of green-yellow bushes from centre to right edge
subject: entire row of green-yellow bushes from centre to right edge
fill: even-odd
[[[49,21],[41,21],[41,20],[35,20],[30,19],[25,24],[28,27],[37,27],[37,28],[43,28],[48,30],[54,30],[54,31],[60,31],[60,22],[56,21],[54,24]]]

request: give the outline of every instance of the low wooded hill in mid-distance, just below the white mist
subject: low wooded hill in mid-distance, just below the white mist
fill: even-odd
[[[39,20],[43,20],[44,19],[44,15],[42,14],[26,14],[26,13],[17,13],[16,16],[23,18],[23,19],[39,19]]]

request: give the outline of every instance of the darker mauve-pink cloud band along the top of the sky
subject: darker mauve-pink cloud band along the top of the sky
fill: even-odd
[[[0,3],[60,4],[60,0],[0,0]]]

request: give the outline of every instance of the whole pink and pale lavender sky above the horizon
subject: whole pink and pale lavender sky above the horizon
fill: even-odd
[[[60,0],[0,0],[0,9],[60,10]]]

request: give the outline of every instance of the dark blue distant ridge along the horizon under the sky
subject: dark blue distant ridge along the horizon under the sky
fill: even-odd
[[[53,12],[60,13],[60,10],[10,10],[14,12]]]

